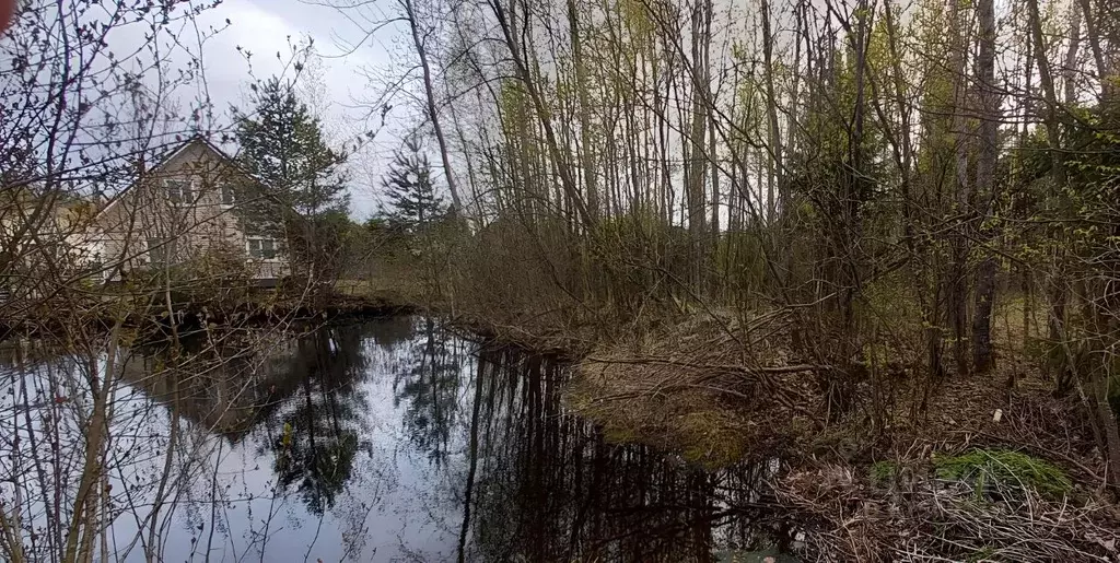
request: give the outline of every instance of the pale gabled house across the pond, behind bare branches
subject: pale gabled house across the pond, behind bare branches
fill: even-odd
[[[283,237],[262,228],[267,222],[250,220],[242,200],[255,180],[209,141],[194,137],[150,169],[139,168],[138,179],[97,214],[86,242],[86,254],[105,264],[106,281],[243,264],[253,282],[273,285],[290,272]]]

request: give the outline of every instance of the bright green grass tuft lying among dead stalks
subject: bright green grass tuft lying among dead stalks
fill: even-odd
[[[937,478],[968,481],[978,491],[988,487],[1029,487],[1046,497],[1062,498],[1073,489],[1065,471],[1017,451],[977,449],[961,456],[935,457],[933,465]]]

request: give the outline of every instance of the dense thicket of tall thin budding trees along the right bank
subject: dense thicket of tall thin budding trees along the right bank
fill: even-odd
[[[400,8],[476,233],[460,301],[603,334],[774,315],[829,412],[877,362],[930,390],[1042,358],[1120,467],[1108,2]]]

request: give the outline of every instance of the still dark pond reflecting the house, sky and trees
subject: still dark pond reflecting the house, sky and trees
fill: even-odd
[[[4,498],[35,520],[25,548],[50,561],[57,499],[35,476],[72,485],[80,457],[64,439],[28,442],[82,428],[66,375],[83,365],[8,351],[3,470],[30,492],[4,485]],[[608,443],[566,411],[564,366],[432,319],[180,357],[180,375],[168,362],[123,360],[95,561],[784,561],[769,550],[792,542],[790,523],[754,508],[773,463],[707,472]]]

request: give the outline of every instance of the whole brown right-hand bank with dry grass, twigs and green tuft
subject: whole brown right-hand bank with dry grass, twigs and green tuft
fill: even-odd
[[[836,366],[796,357],[778,313],[707,311],[608,337],[531,319],[457,322],[567,358],[566,404],[608,441],[709,471],[773,463],[759,494],[800,523],[809,560],[1120,556],[1091,419],[1077,397],[1053,394],[1016,348],[1021,335],[996,335],[995,370],[934,384],[915,373],[914,350],[865,353],[839,393],[823,384]]]

